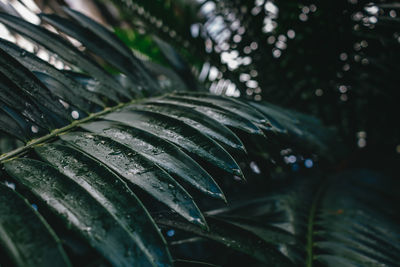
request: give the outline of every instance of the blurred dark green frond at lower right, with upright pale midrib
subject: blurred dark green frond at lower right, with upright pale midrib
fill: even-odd
[[[249,196],[248,201],[206,212],[210,232],[168,217],[159,223],[219,242],[268,266],[396,266],[400,227],[393,181],[353,170],[319,183],[302,181],[269,197]],[[270,254],[255,252],[259,239]]]

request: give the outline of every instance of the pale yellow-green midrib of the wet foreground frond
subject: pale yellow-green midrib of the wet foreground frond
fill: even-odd
[[[47,135],[41,136],[41,137],[36,138],[36,139],[32,139],[29,142],[27,142],[24,146],[18,147],[18,148],[14,149],[14,150],[11,150],[11,151],[9,151],[7,153],[2,154],[0,156],[0,163],[3,163],[3,162],[5,162],[5,161],[7,161],[7,160],[9,160],[11,158],[17,157],[17,156],[23,154],[24,152],[28,151],[30,148],[32,148],[32,147],[34,147],[36,145],[45,143],[46,141],[48,141],[48,140],[50,140],[50,139],[52,139],[54,137],[57,137],[57,136],[59,136],[61,134],[64,134],[64,133],[66,133],[66,132],[78,127],[79,125],[81,125],[83,123],[86,123],[86,122],[89,122],[89,121],[94,120],[96,118],[99,118],[100,116],[103,116],[105,114],[111,113],[111,112],[116,111],[116,110],[118,110],[120,108],[123,108],[125,106],[140,102],[141,100],[143,100],[143,99],[133,99],[133,100],[127,102],[127,103],[120,103],[120,104],[118,104],[116,106],[113,106],[113,107],[106,107],[102,111],[89,114],[88,117],[85,117],[85,118],[83,118],[81,120],[73,121],[72,123],[70,123],[70,124],[68,124],[68,125],[66,125],[66,126],[64,126],[62,128],[55,129],[55,130],[51,131],[49,134],[47,134]]]

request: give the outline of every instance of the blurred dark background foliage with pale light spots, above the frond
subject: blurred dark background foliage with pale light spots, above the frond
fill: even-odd
[[[364,143],[360,132],[375,151],[382,141],[386,153],[399,144],[396,1],[113,2],[127,21],[169,40],[218,94],[230,81],[244,98],[315,114],[350,149]]]

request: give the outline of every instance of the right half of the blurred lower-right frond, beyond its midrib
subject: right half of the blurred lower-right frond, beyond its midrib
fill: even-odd
[[[397,265],[398,201],[396,186],[380,174],[355,170],[332,177],[316,206],[309,256],[324,265]]]

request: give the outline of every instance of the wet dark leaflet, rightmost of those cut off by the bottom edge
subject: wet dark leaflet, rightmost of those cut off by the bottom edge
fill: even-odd
[[[171,258],[160,232],[139,199],[103,164],[68,146],[49,144],[36,153],[60,173],[85,188],[130,232],[141,253],[155,266],[170,266]]]

